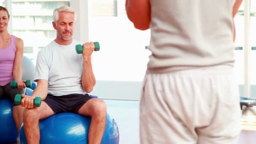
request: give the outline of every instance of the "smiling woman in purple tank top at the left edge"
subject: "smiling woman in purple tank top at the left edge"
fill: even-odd
[[[14,101],[16,94],[24,93],[25,81],[21,80],[21,62],[23,59],[23,40],[7,31],[10,15],[0,6],[0,99]],[[17,88],[11,88],[11,81],[17,82]],[[0,106],[1,107],[1,106]],[[13,119],[19,132],[24,108],[13,105]]]

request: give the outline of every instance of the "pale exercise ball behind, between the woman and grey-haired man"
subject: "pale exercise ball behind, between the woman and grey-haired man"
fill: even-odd
[[[22,80],[31,80],[32,82],[34,81],[35,65],[27,56],[23,56],[21,70]]]

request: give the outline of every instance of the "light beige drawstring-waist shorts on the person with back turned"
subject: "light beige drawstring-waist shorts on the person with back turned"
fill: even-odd
[[[146,74],[140,99],[141,144],[236,144],[239,102],[231,68]]]

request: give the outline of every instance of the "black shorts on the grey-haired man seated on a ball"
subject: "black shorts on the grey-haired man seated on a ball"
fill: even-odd
[[[86,94],[69,94],[65,96],[53,96],[48,94],[44,100],[46,104],[55,113],[60,112],[74,112],[77,111],[89,100],[93,99],[90,95]]]

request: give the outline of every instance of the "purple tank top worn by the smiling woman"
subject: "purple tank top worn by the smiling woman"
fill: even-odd
[[[10,83],[13,79],[13,64],[16,53],[16,37],[11,35],[11,44],[0,48],[0,86]]]

